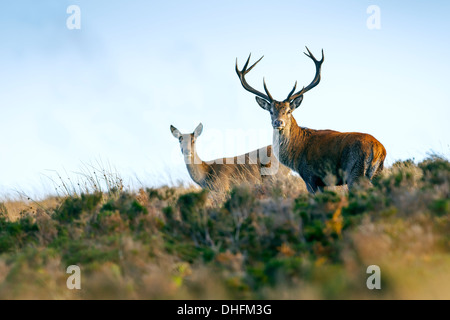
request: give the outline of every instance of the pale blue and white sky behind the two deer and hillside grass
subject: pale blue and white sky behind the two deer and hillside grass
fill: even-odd
[[[81,30],[66,27],[71,4]],[[369,5],[380,30],[366,26]],[[0,194],[42,193],[48,170],[98,159],[147,186],[189,181],[170,124],[203,123],[204,160],[271,144],[235,59],[264,55],[248,81],[262,89],[265,76],[284,99],[314,76],[305,45],[325,62],[300,125],[370,133],[388,165],[449,156],[449,12],[448,1],[2,1]]]

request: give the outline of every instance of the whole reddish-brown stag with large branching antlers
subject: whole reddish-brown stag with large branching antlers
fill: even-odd
[[[294,88],[283,101],[272,98],[263,79],[265,94],[252,88],[245,80],[245,75],[261,61],[261,57],[248,68],[251,54],[242,70],[236,73],[245,90],[256,95],[261,108],[270,112],[275,156],[285,166],[300,174],[309,192],[322,191],[327,185],[345,185],[349,188],[362,177],[370,180],[383,170],[386,157],[384,146],[373,136],[359,132],[338,132],[333,130],[314,130],[301,127],[292,116],[303,101],[303,95],[320,82],[320,71],[324,61],[317,60],[306,47],[316,66],[316,74],[312,82],[295,92]]]

